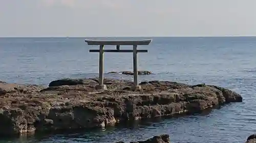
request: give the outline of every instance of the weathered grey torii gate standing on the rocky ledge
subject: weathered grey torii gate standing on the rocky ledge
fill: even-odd
[[[140,89],[138,79],[138,65],[137,53],[147,52],[147,50],[138,50],[138,45],[148,45],[152,39],[148,40],[84,40],[88,45],[99,45],[99,49],[91,49],[89,52],[99,52],[99,85],[96,86],[98,90],[106,90],[104,85],[104,52],[133,52],[133,76],[134,76],[134,89]],[[104,50],[104,45],[115,45],[116,49]],[[120,50],[121,45],[132,45],[133,50]]]

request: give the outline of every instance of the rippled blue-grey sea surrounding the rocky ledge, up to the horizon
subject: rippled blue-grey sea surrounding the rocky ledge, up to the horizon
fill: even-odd
[[[89,53],[85,38],[0,38],[0,80],[42,84],[63,77],[95,77],[98,53]],[[130,38],[125,38],[130,39]],[[144,39],[144,38],[140,38]],[[147,39],[147,38],[146,38]],[[210,112],[65,134],[3,138],[1,142],[115,142],[169,134],[172,142],[244,142],[256,132],[256,37],[153,37],[148,53],[139,53],[144,80],[172,80],[220,85],[240,93],[242,103]],[[106,49],[115,47],[106,46]],[[125,46],[121,49],[132,47]],[[132,71],[132,53],[105,53],[105,72]],[[133,79],[129,75],[106,77]],[[1,121],[0,121],[1,122]],[[1,127],[0,127],[1,128]]]

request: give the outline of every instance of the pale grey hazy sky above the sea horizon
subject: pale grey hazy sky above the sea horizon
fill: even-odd
[[[256,36],[256,0],[0,0],[0,37]]]

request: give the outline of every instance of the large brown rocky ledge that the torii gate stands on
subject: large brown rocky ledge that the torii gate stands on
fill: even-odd
[[[104,82],[106,91],[95,90],[97,78],[56,80],[48,88],[1,81],[0,134],[105,127],[242,102],[238,93],[215,85],[148,81],[133,91],[131,81]]]

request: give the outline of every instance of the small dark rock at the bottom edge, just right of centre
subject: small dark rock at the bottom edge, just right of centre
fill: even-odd
[[[118,141],[116,143],[124,143],[124,142]],[[159,136],[154,136],[144,141],[136,141],[136,142],[130,142],[130,143],[170,143],[170,138],[168,134],[162,134]]]

